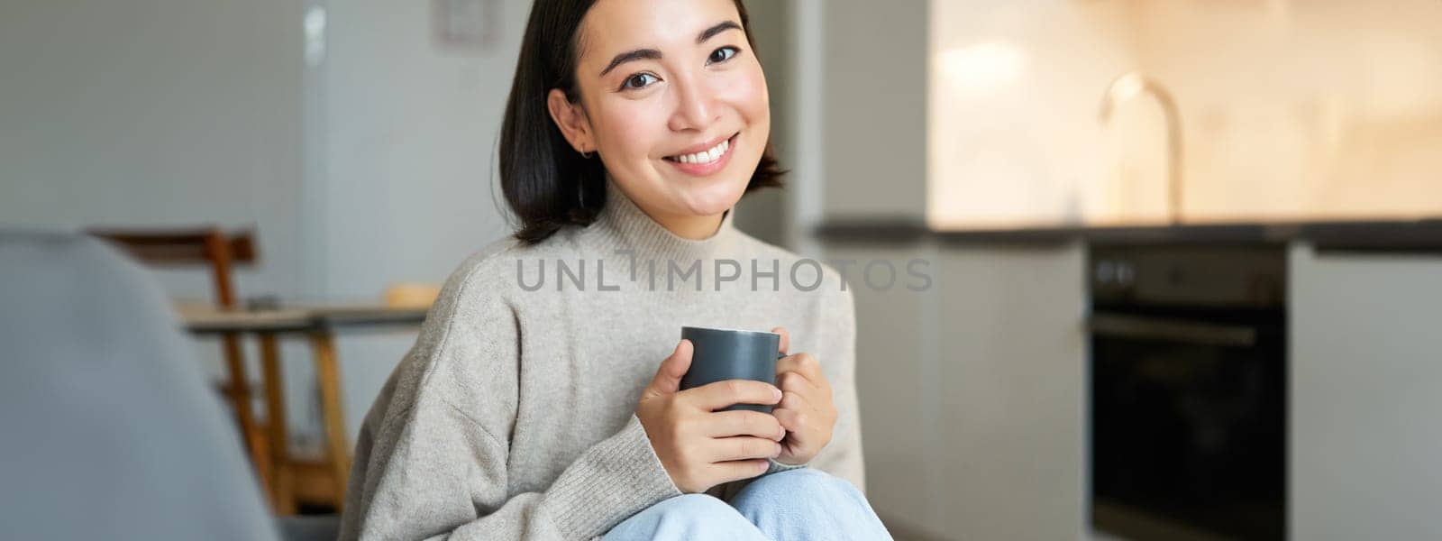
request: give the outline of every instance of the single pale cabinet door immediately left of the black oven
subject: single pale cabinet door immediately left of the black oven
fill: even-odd
[[[950,538],[1082,535],[1084,261],[1079,244],[943,254],[934,475]]]

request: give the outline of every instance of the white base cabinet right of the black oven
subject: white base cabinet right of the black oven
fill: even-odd
[[[1442,532],[1442,257],[1291,252],[1293,540]]]

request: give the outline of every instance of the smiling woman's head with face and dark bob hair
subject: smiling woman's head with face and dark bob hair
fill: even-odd
[[[538,3],[500,134],[516,238],[590,224],[607,177],[686,238],[780,186],[747,25],[740,0]]]

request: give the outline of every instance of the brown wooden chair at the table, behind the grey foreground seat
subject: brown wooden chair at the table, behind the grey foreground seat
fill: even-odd
[[[235,264],[254,264],[257,258],[255,239],[251,231],[226,234],[215,226],[179,228],[179,229],[89,229],[88,234],[112,242],[131,257],[153,267],[185,267],[206,265],[211,271],[211,281],[215,287],[215,303],[221,309],[236,309],[235,286],[231,281],[231,268]],[[241,430],[245,449],[255,465],[255,473],[261,479],[265,493],[271,493],[273,457],[271,444],[265,433],[255,421],[255,411],[251,407],[251,385],[245,374],[245,358],[241,353],[238,335],[221,336],[222,352],[229,381],[224,392],[235,410],[236,424]],[[261,356],[265,369],[274,369],[277,364],[277,346],[274,339],[261,339]],[[281,392],[281,390],[267,390],[267,394]],[[270,413],[273,421],[277,413]],[[280,417],[284,423],[284,417]],[[275,423],[271,423],[273,428]],[[281,443],[284,444],[284,443]]]

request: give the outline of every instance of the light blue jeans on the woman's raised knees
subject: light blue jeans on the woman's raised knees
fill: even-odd
[[[603,541],[891,540],[851,483],[800,467],[753,480],[731,503],[688,493],[642,509]]]

